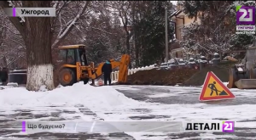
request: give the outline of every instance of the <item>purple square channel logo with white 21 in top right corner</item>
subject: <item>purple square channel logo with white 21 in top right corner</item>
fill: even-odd
[[[255,7],[236,6],[236,25],[255,25]]]

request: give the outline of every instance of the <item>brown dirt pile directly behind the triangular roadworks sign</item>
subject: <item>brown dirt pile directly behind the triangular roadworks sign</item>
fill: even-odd
[[[197,73],[194,76],[191,76],[187,81],[183,82],[183,86],[201,86],[204,84],[204,81],[207,76],[207,72],[212,71],[221,81],[229,81],[229,71],[227,67],[219,66],[210,66],[206,67]]]

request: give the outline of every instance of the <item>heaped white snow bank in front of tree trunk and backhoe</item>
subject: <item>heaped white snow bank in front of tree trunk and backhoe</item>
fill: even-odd
[[[24,87],[7,88],[0,91],[0,105],[45,106],[86,104],[89,108],[113,108],[119,105],[138,104],[113,87],[92,87],[76,83],[72,87],[60,87],[49,92],[29,92]]]

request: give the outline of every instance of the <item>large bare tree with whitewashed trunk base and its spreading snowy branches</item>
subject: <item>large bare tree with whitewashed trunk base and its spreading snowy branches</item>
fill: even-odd
[[[20,32],[26,46],[27,84],[26,88],[38,91],[45,85],[49,90],[54,88],[53,66],[51,48],[55,48],[73,30],[75,24],[83,16],[90,1],[84,3],[38,1],[16,2],[1,1],[0,7],[55,7],[58,18],[20,18],[9,17],[9,20]],[[77,12],[71,13],[71,9],[77,6]],[[65,17],[65,14],[69,17]],[[68,20],[68,21],[67,21]],[[35,24],[37,23],[37,24]],[[58,32],[57,34],[55,34]],[[44,38],[44,39],[42,39]],[[53,41],[53,43],[52,43]]]

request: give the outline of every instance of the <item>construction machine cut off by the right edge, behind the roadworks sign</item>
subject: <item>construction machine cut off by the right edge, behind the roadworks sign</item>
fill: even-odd
[[[241,64],[230,69],[229,88],[256,89],[256,42],[247,48]]]

